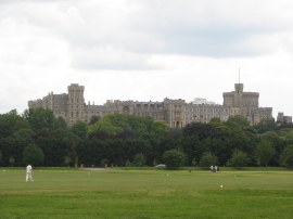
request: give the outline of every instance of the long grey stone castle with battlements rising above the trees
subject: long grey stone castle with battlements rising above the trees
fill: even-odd
[[[243,83],[235,83],[234,91],[224,92],[224,104],[213,102],[191,102],[164,99],[163,102],[106,101],[103,105],[85,103],[85,87],[78,83],[68,86],[68,93],[49,93],[42,99],[28,101],[28,107],[51,110],[56,117],[63,117],[68,125],[76,121],[89,123],[92,116],[126,114],[150,116],[169,127],[184,127],[190,123],[208,123],[212,118],[227,120],[232,115],[243,115],[252,125],[263,118],[272,118],[271,107],[259,107],[257,92],[244,92]],[[200,99],[203,100],[203,99]]]

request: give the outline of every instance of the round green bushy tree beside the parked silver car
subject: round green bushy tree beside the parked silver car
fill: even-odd
[[[169,150],[163,154],[163,160],[168,169],[178,169],[184,164],[184,154],[178,150]]]

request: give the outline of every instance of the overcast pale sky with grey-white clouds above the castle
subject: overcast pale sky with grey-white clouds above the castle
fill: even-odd
[[[292,0],[0,0],[0,114],[71,83],[97,105],[222,104],[239,80],[293,115]]]

